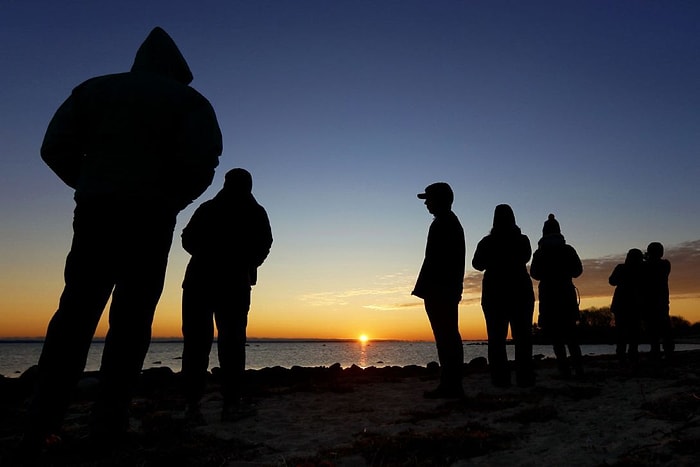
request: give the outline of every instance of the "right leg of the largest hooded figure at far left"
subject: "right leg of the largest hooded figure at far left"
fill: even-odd
[[[119,269],[100,367],[93,432],[128,428],[128,407],[151,341],[165,281],[175,215],[144,206],[117,206]]]

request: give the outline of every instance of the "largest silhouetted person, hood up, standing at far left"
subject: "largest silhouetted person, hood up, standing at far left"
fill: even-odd
[[[173,40],[155,28],[130,72],[80,84],[48,126],[41,156],[75,189],[76,207],[26,447],[58,433],[110,296],[92,434],[117,440],[128,428],[176,216],[209,186],[222,151],[214,110],[191,81]]]

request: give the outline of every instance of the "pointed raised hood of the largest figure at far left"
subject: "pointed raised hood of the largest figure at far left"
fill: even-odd
[[[139,47],[131,71],[158,73],[185,85],[194,78],[175,41],[159,27],[153,28]]]

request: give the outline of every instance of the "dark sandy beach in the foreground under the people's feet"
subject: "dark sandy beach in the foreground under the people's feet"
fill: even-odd
[[[646,355],[642,355],[645,357]],[[700,351],[636,371],[587,357],[582,379],[538,362],[532,388],[494,388],[484,361],[466,365],[464,400],[429,400],[428,367],[271,368],[249,371],[257,413],[219,420],[212,378],[207,424],[183,416],[178,376],[147,370],[130,439],[96,451],[87,441],[94,375],[86,375],[57,449],[28,459],[14,447],[30,375],[0,388],[0,465],[194,466],[685,466],[700,459]]]

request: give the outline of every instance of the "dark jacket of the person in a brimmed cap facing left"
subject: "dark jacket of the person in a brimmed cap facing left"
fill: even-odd
[[[411,294],[423,299],[461,300],[465,257],[464,229],[457,216],[452,211],[436,215]]]

